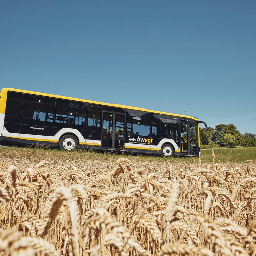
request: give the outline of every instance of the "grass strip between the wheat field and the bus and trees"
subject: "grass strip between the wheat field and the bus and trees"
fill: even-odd
[[[256,148],[216,148],[214,149],[215,160],[221,162],[245,162],[246,160],[256,161]],[[99,153],[93,150],[76,150],[73,152],[60,151],[58,149],[44,149],[44,148],[27,148],[27,147],[1,147],[0,148],[0,161],[3,157],[10,158],[37,158],[38,161],[43,161],[48,158],[58,158],[65,161],[72,160],[88,160],[100,159],[101,161],[113,160],[116,161],[119,157],[127,157],[132,161],[149,161],[149,162],[190,162],[196,163],[198,157],[177,157],[177,158],[162,158],[160,156],[145,156],[135,154],[117,154],[117,153]],[[201,150],[201,160],[203,163],[212,161],[212,149]]]

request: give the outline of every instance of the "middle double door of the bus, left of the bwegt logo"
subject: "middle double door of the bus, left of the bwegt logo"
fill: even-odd
[[[102,115],[101,148],[123,149],[125,115],[108,111],[103,111]]]

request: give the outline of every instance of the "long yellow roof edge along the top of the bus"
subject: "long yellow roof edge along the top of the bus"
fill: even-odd
[[[1,90],[1,94],[2,94],[2,91],[6,91],[6,93],[7,93],[7,91],[13,91],[13,92],[36,94],[36,95],[40,95],[40,96],[54,97],[54,98],[59,98],[59,99],[64,99],[64,100],[76,100],[76,101],[82,101],[82,102],[93,103],[93,104],[98,104],[98,105],[111,106],[111,107],[116,107],[116,108],[128,108],[128,109],[141,110],[141,111],[151,112],[151,113],[156,113],[156,114],[180,116],[180,117],[190,118],[190,119],[194,119],[194,120],[198,121],[198,119],[196,117],[193,117],[193,116],[178,115],[178,114],[172,114],[172,113],[161,112],[161,111],[156,111],[156,110],[150,110],[150,109],[146,109],[146,108],[138,108],[138,107],[132,107],[132,106],[126,106],[126,105],[120,105],[120,104],[114,104],[114,103],[105,103],[105,102],[94,101],[94,100],[84,100],[84,99],[54,95],[54,94],[43,93],[43,92],[33,92],[33,91],[20,90],[20,89],[14,89],[14,88],[3,88]]]

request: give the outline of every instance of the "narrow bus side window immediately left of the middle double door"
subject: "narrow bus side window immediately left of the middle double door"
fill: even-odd
[[[101,106],[88,105],[87,131],[100,132]]]

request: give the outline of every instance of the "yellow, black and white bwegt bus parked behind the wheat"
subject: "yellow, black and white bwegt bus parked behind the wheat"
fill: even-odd
[[[0,93],[0,138],[9,144],[200,156],[198,123],[204,122],[41,92],[3,88]]]

